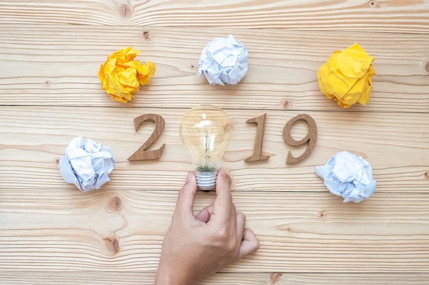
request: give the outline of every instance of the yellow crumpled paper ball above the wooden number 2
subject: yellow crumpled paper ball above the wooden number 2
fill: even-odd
[[[140,51],[131,46],[120,49],[109,55],[100,66],[98,77],[101,88],[115,101],[127,103],[134,98],[133,94],[140,85],[148,84],[155,74],[155,64],[148,61],[143,66],[139,60],[134,60],[136,55],[140,55]]]

